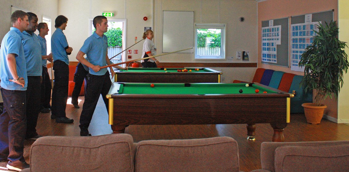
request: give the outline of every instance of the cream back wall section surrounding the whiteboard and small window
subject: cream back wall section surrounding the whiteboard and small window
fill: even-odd
[[[236,51],[249,51],[250,61],[257,63],[257,2],[254,0],[154,0],[154,25],[157,52],[162,52],[162,11],[194,11],[195,23],[226,23],[225,60],[195,60],[194,54],[175,53],[159,57],[161,62],[236,62]],[[240,22],[239,18],[245,21]],[[177,26],[174,26],[177,27]],[[223,72],[222,82],[252,81],[256,68],[214,68]]]

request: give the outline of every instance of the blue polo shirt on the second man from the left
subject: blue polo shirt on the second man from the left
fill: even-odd
[[[27,63],[28,76],[41,76],[41,45],[38,36],[35,33],[22,32],[22,44]]]

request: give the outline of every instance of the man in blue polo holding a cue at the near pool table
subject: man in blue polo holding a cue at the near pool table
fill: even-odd
[[[89,67],[85,102],[82,106],[80,115],[79,127],[81,136],[91,136],[88,127],[101,94],[106,109],[108,110],[108,100],[105,96],[108,94],[111,86],[110,74],[107,68],[101,69],[101,66],[110,65],[107,54],[108,38],[104,35],[108,29],[107,18],[104,16],[96,16],[93,19],[93,26],[96,28],[96,31],[85,40],[83,46],[76,55],[77,60]],[[85,54],[88,60],[84,59],[83,56]],[[116,66],[116,68],[127,70],[127,68],[120,66]],[[112,68],[110,69],[112,76],[114,76],[114,71]]]

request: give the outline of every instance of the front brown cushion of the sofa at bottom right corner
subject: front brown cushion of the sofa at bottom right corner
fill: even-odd
[[[275,172],[349,171],[349,144],[287,145],[275,150]]]

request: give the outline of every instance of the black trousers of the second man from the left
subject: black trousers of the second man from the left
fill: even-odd
[[[27,133],[25,134],[25,139],[30,139],[38,135],[35,127],[40,111],[40,104],[37,103],[40,100],[40,84],[41,76],[28,76],[28,87],[25,94],[27,97]]]

